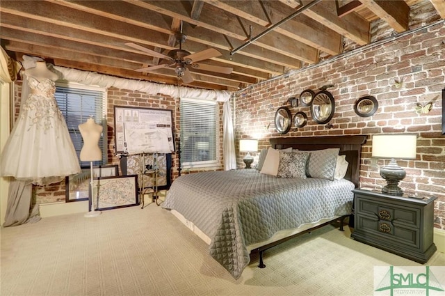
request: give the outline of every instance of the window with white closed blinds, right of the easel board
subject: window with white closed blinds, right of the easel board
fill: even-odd
[[[219,106],[217,102],[181,98],[181,166],[219,164]]]

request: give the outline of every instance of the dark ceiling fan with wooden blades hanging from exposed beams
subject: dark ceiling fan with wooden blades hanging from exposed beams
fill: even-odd
[[[177,77],[179,79],[182,79],[182,81],[185,84],[193,82],[193,77],[189,70],[190,67],[194,69],[201,69],[204,71],[218,72],[223,74],[232,73],[233,70],[232,68],[221,67],[218,65],[197,63],[199,61],[204,61],[206,59],[211,59],[216,56],[220,56],[221,53],[217,49],[209,48],[209,49],[204,49],[201,52],[195,52],[194,54],[191,54],[190,52],[187,52],[186,50],[182,49],[182,43],[184,43],[184,41],[187,38],[187,36],[184,33],[182,33],[182,29],[181,32],[175,33],[175,38],[179,42],[179,49],[170,50],[170,52],[168,52],[167,55],[155,52],[152,49],[145,48],[133,42],[126,42],[125,45],[129,47],[133,47],[134,49],[138,49],[141,52],[145,52],[145,54],[148,54],[149,56],[156,56],[165,60],[165,62],[162,62],[159,65],[152,65],[145,68],[135,69],[135,71],[150,72],[152,70],[161,68],[174,68]]]

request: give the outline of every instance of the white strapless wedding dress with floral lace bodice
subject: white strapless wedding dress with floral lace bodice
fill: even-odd
[[[0,176],[47,185],[80,173],[76,150],[54,98],[54,81],[26,75],[24,79],[29,95],[1,154]]]

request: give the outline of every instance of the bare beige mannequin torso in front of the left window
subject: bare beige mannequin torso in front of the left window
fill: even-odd
[[[81,161],[90,162],[102,159],[102,150],[100,150],[98,145],[102,130],[102,125],[97,125],[92,118],[88,118],[86,123],[79,125],[79,131],[83,139],[83,147],[80,155]]]

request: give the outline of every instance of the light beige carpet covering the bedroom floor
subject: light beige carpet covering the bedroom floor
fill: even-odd
[[[347,228],[347,227],[346,227]],[[265,253],[241,279],[154,203],[1,229],[0,295],[372,295],[376,265],[419,265],[326,226]],[[428,265],[445,265],[436,253]]]

